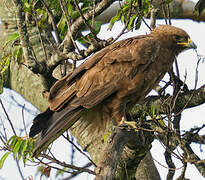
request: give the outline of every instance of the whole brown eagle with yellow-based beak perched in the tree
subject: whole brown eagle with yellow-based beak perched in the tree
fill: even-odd
[[[34,155],[83,117],[98,126],[116,125],[144,99],[168,72],[183,50],[196,48],[182,29],[161,25],[148,35],[131,37],[100,50],[50,89],[50,107],[33,121],[38,134]]]

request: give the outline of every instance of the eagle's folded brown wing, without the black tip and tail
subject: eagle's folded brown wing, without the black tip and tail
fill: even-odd
[[[156,41],[146,35],[121,40],[102,49],[54,84],[49,95],[50,109],[59,111],[65,104],[90,109],[99,104],[119,91],[122,81],[126,85],[140,64],[149,64],[157,46]]]

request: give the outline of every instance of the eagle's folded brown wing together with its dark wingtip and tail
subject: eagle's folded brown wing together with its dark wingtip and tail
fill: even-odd
[[[132,78],[140,71],[140,65],[147,67],[153,62],[157,49],[156,40],[148,35],[122,40],[94,54],[56,82],[49,94],[50,110],[38,115],[30,130],[32,136],[41,132],[34,156],[71,127],[84,110],[109,101],[111,96],[116,98],[123,89],[135,87]],[[127,96],[126,93],[121,94]]]

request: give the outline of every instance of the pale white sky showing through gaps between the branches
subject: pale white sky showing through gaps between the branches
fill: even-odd
[[[149,24],[149,20],[146,20],[146,21]],[[158,20],[157,25],[160,25],[160,24],[165,24],[165,23],[163,20]],[[194,43],[198,47],[197,48],[198,54],[205,56],[205,36],[204,36],[205,23],[193,22],[191,20],[172,20],[172,25],[186,30],[188,34],[190,35],[191,39],[194,41]],[[102,39],[107,39],[111,36],[113,37],[117,36],[117,34],[119,34],[119,32],[121,31],[123,27],[121,26],[120,23],[117,23],[116,25],[114,25],[112,31],[107,31],[107,26],[103,26],[102,28],[103,29],[100,32],[99,37]],[[123,35],[120,39],[125,39],[131,36],[136,36],[136,35],[141,35],[141,34],[146,34],[146,33],[149,33],[149,29],[144,24],[142,24],[140,30],[127,33]],[[187,73],[186,83],[188,84],[188,87],[192,89],[194,87],[194,82],[195,82],[195,73],[196,73],[196,64],[197,64],[196,53],[193,50],[185,51],[181,55],[178,56],[177,61],[179,63],[179,69],[181,72],[180,77],[182,77],[183,79],[183,77]],[[205,63],[200,63],[199,69],[198,69],[199,78],[198,78],[197,87],[200,87],[201,85],[205,84],[204,69],[205,69]],[[12,119],[13,122],[15,122],[15,126],[22,127],[22,108],[17,108],[15,103],[13,103],[13,105],[10,104],[9,99],[8,99],[8,95],[10,93],[12,93],[15,96],[15,98],[18,100],[20,104],[25,104],[26,108],[32,109],[32,111],[30,112],[31,114],[27,113],[26,111],[24,112],[26,122],[31,122],[34,115],[36,115],[38,111],[35,108],[33,108],[31,104],[25,102],[21,96],[16,97],[17,95],[15,92],[10,92],[8,90],[5,90],[5,92],[2,95],[0,95],[0,97],[9,112],[10,118]],[[181,120],[182,129],[189,130],[191,127],[202,125],[205,122],[204,114],[205,114],[205,104],[197,108],[185,110],[183,112],[183,117]],[[4,118],[3,112],[1,113],[1,118],[2,119]],[[11,132],[9,128],[7,130]],[[204,134],[205,131],[201,133]],[[58,154],[58,157],[64,158],[64,161],[67,161],[69,163],[70,161],[69,156],[72,152],[72,149],[70,149],[68,145],[65,145],[65,143],[62,142],[61,140],[56,141],[55,146],[58,147],[56,148],[56,153]],[[200,156],[201,158],[205,157],[205,152],[204,151],[201,152],[199,146],[192,145],[192,147],[195,150],[195,152],[197,152],[198,156]],[[204,146],[202,146],[201,149],[203,150]],[[178,149],[177,151],[179,151],[179,153],[181,152],[180,149]],[[163,146],[158,141],[154,141],[152,143],[151,153],[153,155],[153,158],[157,160],[157,162],[155,161],[155,163],[160,172],[162,180],[166,179],[168,170],[166,168],[167,165],[164,161]],[[67,154],[67,156],[65,156],[65,154]],[[2,156],[2,152],[0,152],[0,157],[1,156]],[[174,179],[176,179],[180,175],[182,165],[177,159],[174,159],[174,161],[177,162],[176,167],[178,169],[174,176]],[[74,163],[75,165],[85,164],[86,158],[84,158],[83,156],[77,155],[76,158],[74,159]],[[30,166],[26,166],[26,167],[22,167],[22,171],[23,171],[24,177],[28,177],[30,175],[34,177],[36,169]],[[11,156],[9,157],[9,161],[6,161],[3,169],[0,170],[0,177],[4,177],[4,179],[9,180],[9,179],[13,179],[14,175],[15,175],[15,179],[17,180],[21,179],[19,172],[16,168],[16,164],[13,161],[12,156]],[[197,180],[204,179],[193,165],[188,165],[188,170],[186,171],[185,177],[189,179],[197,179]],[[83,176],[75,178],[75,180],[82,180],[86,178],[93,179],[93,177],[90,177],[87,174],[84,174]],[[55,179],[55,178],[50,178],[50,179]]]

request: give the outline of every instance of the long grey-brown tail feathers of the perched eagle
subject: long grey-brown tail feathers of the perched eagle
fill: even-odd
[[[63,110],[59,112],[53,112],[52,114],[50,112],[47,112],[49,115],[51,114],[50,118],[45,121],[44,115],[47,116],[47,113],[41,113],[39,117],[35,119],[40,119],[42,123],[46,124],[46,127],[41,128],[41,133],[37,137],[35,148],[33,152],[33,156],[38,156],[41,151],[46,149],[49,144],[51,144],[55,139],[57,139],[60,135],[62,135],[68,128],[70,128],[81,116],[81,112],[84,110],[83,107],[66,107]],[[35,120],[34,119],[34,120]],[[43,120],[42,120],[43,119]],[[34,126],[34,125],[33,125]],[[32,126],[32,127],[33,127]],[[36,125],[37,126],[37,125]],[[31,130],[29,135],[33,135],[38,132],[34,131],[36,127],[31,127]]]

